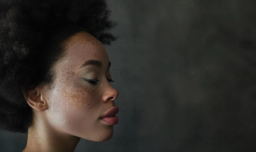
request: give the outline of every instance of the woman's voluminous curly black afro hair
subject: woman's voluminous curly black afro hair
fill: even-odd
[[[116,23],[105,0],[0,1],[0,129],[27,132],[32,109],[23,93],[52,84],[64,42],[85,31],[103,44]]]

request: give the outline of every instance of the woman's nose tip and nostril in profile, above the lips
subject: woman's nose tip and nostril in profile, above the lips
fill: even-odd
[[[109,102],[114,101],[118,97],[119,92],[114,89],[112,86],[108,85],[108,87],[105,89],[105,93],[102,97],[103,102]]]

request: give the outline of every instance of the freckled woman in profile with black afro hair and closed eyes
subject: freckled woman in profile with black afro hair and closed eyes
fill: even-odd
[[[104,0],[1,1],[0,129],[28,132],[26,151],[74,151],[118,123]],[[101,43],[102,42],[102,43]]]

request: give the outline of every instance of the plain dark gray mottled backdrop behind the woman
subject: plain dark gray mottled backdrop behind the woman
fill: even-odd
[[[255,151],[253,0],[108,0],[119,123],[80,151]],[[26,134],[0,132],[1,151]]]

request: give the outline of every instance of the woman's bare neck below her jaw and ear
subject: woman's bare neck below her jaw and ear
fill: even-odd
[[[22,152],[73,152],[79,140],[79,137],[61,133],[45,122],[37,121],[28,129],[26,147]]]

